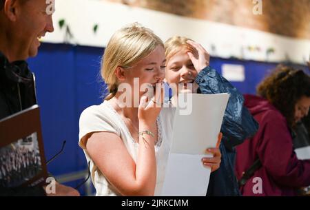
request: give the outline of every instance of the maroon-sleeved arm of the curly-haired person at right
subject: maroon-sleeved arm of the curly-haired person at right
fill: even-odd
[[[256,148],[258,158],[269,176],[279,185],[307,187],[310,185],[310,160],[298,160],[285,118],[268,114],[262,140]]]

